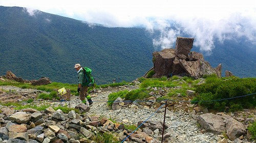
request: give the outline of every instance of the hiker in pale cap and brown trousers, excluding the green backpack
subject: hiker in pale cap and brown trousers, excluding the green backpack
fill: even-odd
[[[91,100],[91,96],[88,95],[88,85],[86,78],[84,77],[83,69],[80,64],[75,64],[74,67],[78,73],[78,88],[77,92],[79,93],[80,100],[84,104],[91,105],[93,101]]]

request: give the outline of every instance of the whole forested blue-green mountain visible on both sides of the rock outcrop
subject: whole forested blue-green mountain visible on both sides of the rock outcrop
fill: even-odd
[[[132,81],[153,67],[152,39],[142,27],[104,27],[20,7],[0,6],[0,75],[11,70],[24,79],[49,77],[77,83],[76,63],[88,66],[98,84]],[[187,37],[187,35],[180,35]],[[246,39],[215,42],[204,58],[212,67],[222,63],[222,74],[256,77],[256,46]],[[160,49],[158,48],[158,51]],[[199,51],[198,47],[193,47]]]

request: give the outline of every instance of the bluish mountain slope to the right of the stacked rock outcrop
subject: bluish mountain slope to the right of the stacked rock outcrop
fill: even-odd
[[[216,41],[212,54],[204,58],[212,67],[221,63],[222,76],[228,70],[238,77],[256,77],[256,45],[246,39]]]

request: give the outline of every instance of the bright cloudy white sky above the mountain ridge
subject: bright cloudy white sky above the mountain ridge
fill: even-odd
[[[214,38],[220,42],[245,36],[256,41],[256,1],[234,0],[0,0],[0,6],[25,7],[32,13],[47,13],[99,23],[109,27],[145,26],[148,31],[161,30],[153,44],[173,47],[180,30],[195,38],[194,45],[211,51]],[[170,30],[174,21],[176,30]]]

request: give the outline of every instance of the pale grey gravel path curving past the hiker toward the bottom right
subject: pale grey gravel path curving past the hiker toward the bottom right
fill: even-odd
[[[16,91],[30,91],[31,89],[20,89],[12,86],[0,86],[4,90],[16,90]],[[132,90],[136,87],[120,87],[119,90]],[[31,90],[32,91],[32,90]],[[111,110],[108,107],[108,95],[116,92],[117,89],[102,90],[101,92],[92,93],[93,104],[90,106],[89,115],[98,115],[105,116],[114,121],[125,123],[125,124],[135,124],[139,121],[161,121],[163,122],[164,118],[164,108],[159,109],[156,112],[156,109],[148,108],[142,105],[137,106],[138,108],[131,108],[130,106],[122,107],[121,109]],[[79,97],[71,96],[71,101],[69,102],[55,102],[54,105],[69,105],[74,107],[80,103]],[[191,118],[188,113],[184,110],[172,111],[167,113],[165,119],[165,125],[168,128],[165,130],[165,133],[170,133],[171,137],[169,142],[202,142],[202,143],[217,143],[217,140],[220,139],[217,135],[212,133],[201,133],[201,129],[197,127],[197,122]],[[161,135],[159,135],[161,137]]]

